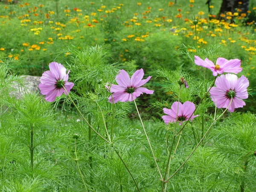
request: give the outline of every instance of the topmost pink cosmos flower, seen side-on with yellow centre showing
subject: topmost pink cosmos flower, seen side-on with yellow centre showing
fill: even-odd
[[[227,60],[225,58],[219,57],[215,65],[208,58],[203,60],[200,57],[195,56],[195,64],[211,70],[213,76],[217,76],[218,74],[222,74],[224,72],[239,73],[242,71],[241,60],[239,59]]]

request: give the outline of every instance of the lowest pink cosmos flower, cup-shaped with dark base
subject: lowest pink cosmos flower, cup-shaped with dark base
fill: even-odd
[[[179,109],[178,109],[178,103],[179,103]],[[177,111],[178,111],[178,122],[179,125],[182,124],[182,122],[187,121],[189,117],[191,116],[190,121],[197,117],[198,115],[192,115],[192,113],[195,111],[195,104],[189,101],[186,101],[181,104],[181,102],[174,102],[172,104],[171,109],[163,108],[163,112],[167,115],[162,116],[162,119],[166,124],[169,124],[169,122],[175,122],[177,119]]]

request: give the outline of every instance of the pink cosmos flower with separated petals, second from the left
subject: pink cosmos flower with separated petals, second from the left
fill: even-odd
[[[149,81],[151,76],[148,76],[147,79],[143,79],[144,72],[143,69],[137,70],[134,72],[134,74],[131,76],[128,75],[128,73],[125,70],[119,70],[119,74],[116,76],[116,83],[118,85],[112,84],[109,88],[108,85],[106,85],[106,88],[110,92],[113,93],[113,101],[114,103],[120,101],[120,102],[127,102],[127,101],[133,101],[138,96],[140,96],[143,93],[147,94],[153,94],[153,90],[148,90],[145,87],[141,87],[143,84]],[[110,96],[108,98],[108,101],[112,103],[112,97]]]

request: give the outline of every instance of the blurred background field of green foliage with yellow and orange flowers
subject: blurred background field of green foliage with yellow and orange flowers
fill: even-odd
[[[70,62],[67,46],[104,45],[110,64],[130,71],[143,68],[153,76],[151,87],[164,87],[160,78],[155,79],[157,69],[183,65],[204,79],[194,55],[214,62],[218,57],[239,58],[243,67],[239,76],[247,76],[254,90],[242,110],[255,111],[256,2],[250,0],[246,13],[239,9],[240,2],[235,12],[219,14],[221,2],[2,0],[0,62],[12,60],[13,73],[41,76],[51,61]],[[192,17],[198,17],[197,40]],[[163,96],[162,91],[156,91],[155,98],[172,94],[167,91]]]

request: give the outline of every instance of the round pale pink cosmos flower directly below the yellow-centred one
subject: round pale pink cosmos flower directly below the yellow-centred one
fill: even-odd
[[[234,74],[226,74],[217,77],[216,87],[212,87],[210,95],[217,108],[227,108],[233,98],[229,112],[234,112],[235,108],[242,108],[245,102],[242,99],[248,98],[247,87],[249,81],[245,76],[239,79]]]

